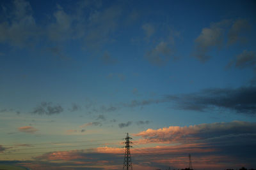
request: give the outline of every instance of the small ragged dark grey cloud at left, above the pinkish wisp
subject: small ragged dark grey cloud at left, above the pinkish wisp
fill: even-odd
[[[42,102],[40,106],[37,106],[31,113],[38,115],[54,115],[63,111],[63,108],[56,104],[55,106],[51,102]]]

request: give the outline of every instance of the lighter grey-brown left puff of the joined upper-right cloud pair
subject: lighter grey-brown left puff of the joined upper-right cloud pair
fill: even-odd
[[[229,20],[212,23],[210,27],[202,29],[200,35],[195,39],[195,56],[201,62],[205,62],[211,56],[208,54],[214,47],[220,48],[223,45],[225,31],[230,25]]]

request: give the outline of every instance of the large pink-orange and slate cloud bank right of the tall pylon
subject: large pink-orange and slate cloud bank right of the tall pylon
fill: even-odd
[[[255,166],[255,127],[255,122],[234,121],[147,129],[135,134],[142,139],[133,143],[156,143],[156,147],[139,150],[141,154],[157,155],[150,160],[162,166],[182,167],[188,162],[188,153],[192,154],[196,169]]]

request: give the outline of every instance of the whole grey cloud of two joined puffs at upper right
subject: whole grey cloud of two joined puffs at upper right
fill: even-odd
[[[212,23],[210,27],[202,29],[200,35],[195,39],[193,56],[201,62],[205,62],[211,58],[209,55],[211,50],[220,49],[225,45],[226,38],[228,45],[236,42],[245,43],[249,30],[248,20],[241,18]]]

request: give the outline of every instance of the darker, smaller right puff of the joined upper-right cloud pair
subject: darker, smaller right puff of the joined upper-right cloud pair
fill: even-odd
[[[237,19],[234,21],[234,24],[228,31],[228,44],[232,45],[237,41],[244,42],[246,41],[246,37],[243,36],[245,32],[250,30],[250,24],[248,20],[245,19]]]

